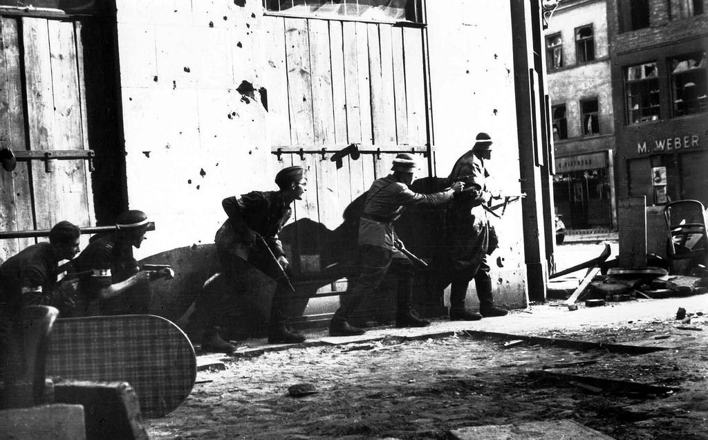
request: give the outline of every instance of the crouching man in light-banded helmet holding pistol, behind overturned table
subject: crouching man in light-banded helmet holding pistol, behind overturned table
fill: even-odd
[[[148,223],[141,210],[128,210],[115,220],[114,232],[91,237],[89,246],[74,259],[75,272],[89,272],[79,282],[79,315],[91,314],[90,305],[95,301],[102,315],[149,312],[149,281],[163,274],[141,271],[132,253],[145,239]]]

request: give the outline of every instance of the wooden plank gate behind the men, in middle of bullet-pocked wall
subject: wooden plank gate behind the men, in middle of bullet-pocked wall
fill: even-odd
[[[279,167],[302,164],[309,181],[295,203],[295,239],[285,243],[307,276],[324,269],[326,233],[390,173],[396,153],[418,154],[428,175],[425,33],[420,25],[282,16],[266,16],[265,25],[272,152]],[[336,167],[332,154],[352,143],[360,157]]]

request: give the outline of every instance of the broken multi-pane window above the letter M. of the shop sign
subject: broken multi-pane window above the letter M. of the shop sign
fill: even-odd
[[[628,125],[659,120],[661,112],[656,61],[624,67],[624,96]]]

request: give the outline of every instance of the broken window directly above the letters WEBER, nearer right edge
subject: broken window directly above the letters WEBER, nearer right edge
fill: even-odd
[[[669,60],[673,115],[702,113],[708,108],[706,52],[697,52]]]

